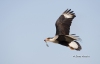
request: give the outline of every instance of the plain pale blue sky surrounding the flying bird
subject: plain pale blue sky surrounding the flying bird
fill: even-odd
[[[0,64],[100,64],[99,6],[99,0],[0,0]],[[70,34],[82,39],[81,51],[44,42],[67,8],[76,14]]]

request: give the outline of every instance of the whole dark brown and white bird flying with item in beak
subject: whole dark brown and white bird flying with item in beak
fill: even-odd
[[[56,20],[55,36],[44,39],[46,44],[47,42],[53,42],[62,46],[69,47],[71,50],[82,50],[82,46],[78,42],[79,40],[81,40],[81,38],[79,36],[76,36],[76,34],[70,34],[70,26],[75,17],[76,14],[74,13],[74,11],[71,11],[71,9],[66,9]]]

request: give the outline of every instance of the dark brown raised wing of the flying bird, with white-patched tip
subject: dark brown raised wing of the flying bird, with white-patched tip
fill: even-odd
[[[74,11],[67,9],[56,21],[56,35],[69,35],[72,20],[76,17]]]

